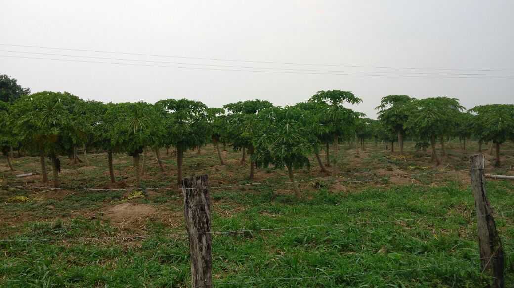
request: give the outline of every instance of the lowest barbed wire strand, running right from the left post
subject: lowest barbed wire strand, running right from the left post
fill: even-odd
[[[436,264],[432,264],[432,265],[424,265],[424,266],[418,266],[415,268],[399,269],[399,270],[379,270],[379,271],[368,271],[368,272],[344,274],[344,275],[317,275],[317,276],[304,276],[304,277],[261,278],[261,279],[241,281],[241,282],[221,282],[221,281],[219,281],[219,283],[220,284],[228,284],[228,285],[230,285],[230,284],[249,284],[249,283],[255,283],[255,282],[262,282],[262,281],[273,281],[273,280],[306,280],[306,279],[320,279],[320,278],[342,278],[342,277],[354,277],[354,276],[360,276],[360,275],[366,275],[366,274],[376,274],[376,273],[382,274],[382,273],[407,272],[407,271],[423,270],[423,269],[433,268],[433,267],[437,267],[437,266],[444,266],[444,265],[448,265],[448,264],[469,261],[469,260],[483,260],[483,259],[491,259],[491,258],[495,258],[495,257],[510,256],[512,254],[514,254],[514,253],[504,253],[502,255],[483,257],[483,258],[465,258],[465,259],[458,259],[458,260],[454,260],[454,261],[448,261],[448,262],[444,262],[444,263],[436,263]],[[204,287],[204,286],[212,285],[212,284],[213,283],[201,284],[201,285],[192,286],[192,288]]]

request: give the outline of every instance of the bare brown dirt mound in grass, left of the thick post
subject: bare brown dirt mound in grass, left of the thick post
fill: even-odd
[[[152,205],[124,202],[105,210],[104,219],[116,223],[137,222],[152,217],[157,209]]]

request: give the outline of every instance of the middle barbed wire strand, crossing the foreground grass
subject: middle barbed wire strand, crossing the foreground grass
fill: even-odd
[[[484,216],[493,216],[498,214],[506,214],[509,212],[514,212],[514,209],[497,212],[493,214],[482,214],[475,215],[473,217],[484,217]],[[471,215],[470,215],[471,216]],[[379,221],[359,221],[359,222],[345,222],[338,224],[314,224],[314,225],[304,225],[304,226],[289,226],[289,227],[274,227],[274,228],[263,228],[263,229],[240,229],[240,230],[228,230],[228,231],[210,231],[210,232],[198,232],[198,233],[171,233],[171,234],[150,234],[150,235],[121,235],[121,236],[105,236],[105,237],[76,237],[76,238],[35,238],[35,239],[0,239],[0,242],[39,242],[39,241],[78,241],[78,240],[106,240],[106,239],[133,239],[133,238],[147,238],[147,237],[155,237],[155,236],[190,236],[190,235],[198,235],[198,234],[211,234],[211,235],[221,235],[221,234],[243,234],[243,233],[251,233],[251,232],[264,232],[264,231],[277,231],[277,230],[296,230],[296,229],[308,229],[308,228],[322,228],[322,227],[342,227],[346,225],[361,225],[361,224],[380,224],[380,223],[394,223],[394,222],[402,222],[402,221],[421,221],[421,220],[435,220],[435,219],[448,219],[448,218],[460,218],[466,217],[465,215],[446,215],[439,217],[420,217],[420,218],[404,218],[404,219],[395,219],[395,220],[379,220]]]

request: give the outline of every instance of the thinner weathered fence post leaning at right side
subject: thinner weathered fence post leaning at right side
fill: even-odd
[[[485,192],[484,155],[470,157],[470,176],[476,206],[476,226],[479,234],[480,262],[482,271],[492,278],[490,287],[503,288],[504,260],[502,241],[498,236],[492,208]]]

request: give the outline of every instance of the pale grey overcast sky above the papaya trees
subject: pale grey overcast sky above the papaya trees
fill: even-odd
[[[463,71],[266,64],[0,46],[0,74],[32,92],[68,91],[84,99],[155,102],[190,98],[211,107],[261,98],[304,101],[318,90],[352,91],[355,110],[376,118],[389,94],[449,96],[471,108],[514,102],[514,79],[433,78],[501,74],[514,78],[514,1],[12,1],[0,0],[0,44],[196,58],[349,66],[493,69]],[[24,51],[127,61],[15,53]],[[172,64],[162,62],[187,63]],[[225,66],[200,66],[209,64]],[[333,70],[266,70],[226,66]],[[358,71],[358,72],[355,72]],[[362,73],[373,72],[373,73]],[[404,75],[418,77],[326,74]],[[428,78],[432,77],[432,78]],[[473,75],[472,77],[488,77]]]

